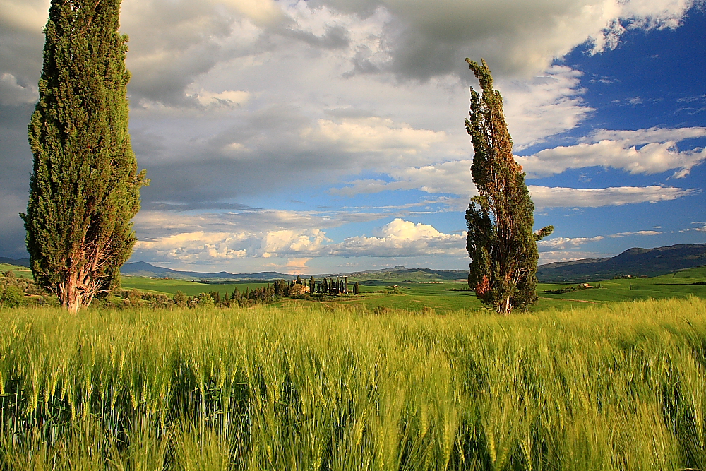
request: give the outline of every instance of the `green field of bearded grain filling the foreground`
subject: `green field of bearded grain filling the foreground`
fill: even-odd
[[[0,309],[0,467],[703,470],[705,368],[696,297]]]

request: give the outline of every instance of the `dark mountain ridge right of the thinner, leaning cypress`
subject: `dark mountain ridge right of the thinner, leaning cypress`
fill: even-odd
[[[606,280],[620,273],[659,276],[683,268],[706,265],[706,244],[679,244],[654,249],[628,249],[609,258],[584,258],[540,265],[540,282]]]

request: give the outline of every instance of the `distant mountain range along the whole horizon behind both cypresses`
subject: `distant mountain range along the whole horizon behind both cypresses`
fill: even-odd
[[[30,266],[28,258],[0,257],[0,263],[9,265]],[[585,282],[606,280],[620,273],[624,275],[658,276],[671,273],[683,268],[706,265],[706,244],[679,244],[655,249],[633,248],[622,254],[608,258],[584,258],[570,262],[554,262],[540,265],[537,268],[537,278],[540,282]],[[123,275],[146,276],[150,278],[176,278],[179,280],[207,280],[207,281],[272,281],[279,278],[289,280],[297,273],[287,274],[276,271],[259,273],[205,273],[196,271],[172,270],[151,265],[147,262],[126,263],[121,269]],[[299,273],[302,277],[304,275]],[[406,268],[395,266],[381,270],[367,270],[353,273],[323,273],[314,275],[316,278],[324,276],[349,276],[354,280],[375,284],[376,282],[403,282],[403,281],[443,281],[465,280],[467,270],[432,270],[431,268]]]

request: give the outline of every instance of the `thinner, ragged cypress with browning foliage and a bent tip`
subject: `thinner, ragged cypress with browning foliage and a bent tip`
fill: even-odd
[[[466,59],[481,86],[471,88],[466,130],[471,136],[471,174],[479,195],[466,210],[466,249],[471,258],[468,284],[484,304],[501,314],[537,302],[537,240],[551,234],[547,226],[532,232],[534,203],[525,172],[513,157],[513,140],[505,123],[503,98],[493,90],[485,61]]]

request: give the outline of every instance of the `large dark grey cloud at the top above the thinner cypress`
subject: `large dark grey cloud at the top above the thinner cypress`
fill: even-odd
[[[623,25],[675,27],[693,2],[310,0],[309,4],[361,17],[387,11],[392,18],[382,44],[389,60],[371,61],[361,50],[350,74],[392,72],[402,80],[426,81],[448,73],[463,77],[465,57],[479,61],[481,56],[496,76],[529,76],[583,42],[594,44],[597,52],[615,47]]]

